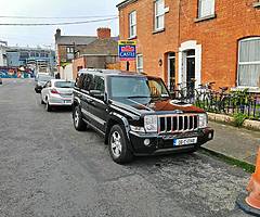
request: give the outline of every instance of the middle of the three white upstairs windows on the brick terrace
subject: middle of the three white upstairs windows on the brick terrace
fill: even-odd
[[[165,28],[165,1],[155,1],[155,30]]]

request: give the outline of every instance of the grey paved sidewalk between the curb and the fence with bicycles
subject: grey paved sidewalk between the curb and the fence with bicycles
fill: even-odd
[[[214,139],[204,144],[203,148],[255,165],[260,146],[260,131],[214,122],[209,122],[209,126],[214,129]]]

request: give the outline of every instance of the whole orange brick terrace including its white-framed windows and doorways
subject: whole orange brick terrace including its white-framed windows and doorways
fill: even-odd
[[[125,0],[117,8],[120,38],[138,43],[131,71],[160,76],[170,89],[195,80],[259,90],[259,0]]]

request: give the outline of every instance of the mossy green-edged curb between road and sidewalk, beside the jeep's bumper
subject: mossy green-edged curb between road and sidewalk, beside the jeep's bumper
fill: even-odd
[[[212,155],[218,158],[222,158],[222,159],[224,159],[225,163],[240,167],[248,173],[251,173],[251,174],[255,173],[256,166],[253,164],[235,158],[233,156],[225,155],[221,152],[217,152],[217,151],[213,151],[213,150],[205,148],[205,146],[200,146],[200,150],[205,154]]]

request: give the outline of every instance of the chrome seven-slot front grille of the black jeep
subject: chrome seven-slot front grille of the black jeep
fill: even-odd
[[[159,115],[158,133],[165,132],[186,132],[198,128],[198,115]]]

